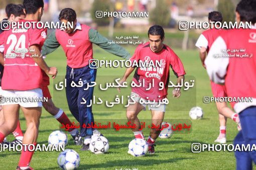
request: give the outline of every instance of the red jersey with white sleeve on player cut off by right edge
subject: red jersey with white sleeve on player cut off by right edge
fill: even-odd
[[[255,26],[229,29],[214,41],[205,60],[208,75],[214,82],[225,83],[229,97],[252,97],[252,102],[231,102],[237,113],[256,105],[255,46]]]

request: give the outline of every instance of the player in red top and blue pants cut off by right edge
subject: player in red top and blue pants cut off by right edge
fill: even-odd
[[[235,151],[236,169],[252,169],[252,161],[256,163],[253,147],[256,145],[255,9],[255,0],[241,0],[237,4],[236,20],[251,22],[251,28],[229,29],[221,33],[204,62],[210,79],[225,84],[227,96],[233,99],[231,106],[239,114],[241,130],[234,138],[234,144],[240,148],[242,145],[249,147]],[[220,56],[216,57],[216,54]]]

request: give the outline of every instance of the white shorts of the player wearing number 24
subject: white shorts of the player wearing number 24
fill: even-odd
[[[0,87],[0,103],[2,105],[19,104],[22,107],[42,107],[41,88],[30,90],[4,90]]]

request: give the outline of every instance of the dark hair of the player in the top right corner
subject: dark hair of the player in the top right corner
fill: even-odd
[[[241,21],[256,22],[256,0],[241,0],[235,9]]]

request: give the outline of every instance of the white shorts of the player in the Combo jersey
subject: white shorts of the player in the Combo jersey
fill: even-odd
[[[131,96],[133,96],[134,100],[139,103],[140,103],[141,99],[143,101],[148,101],[147,99],[142,98],[139,94],[137,94],[135,92],[131,92]],[[131,96],[130,96],[129,100],[131,100]],[[159,102],[155,102],[154,104],[146,104],[146,103],[140,103],[140,104],[142,104],[144,106],[144,110],[146,110],[147,105],[148,105],[149,110],[165,112],[165,109],[166,109],[166,104],[162,103],[159,105]]]

